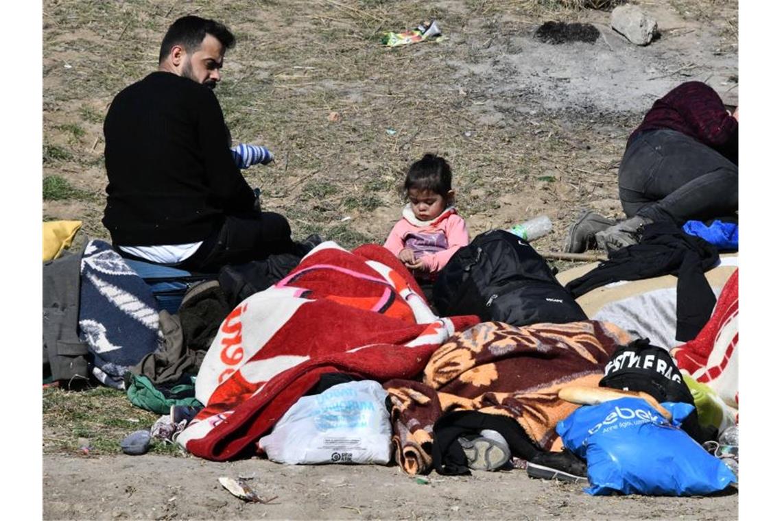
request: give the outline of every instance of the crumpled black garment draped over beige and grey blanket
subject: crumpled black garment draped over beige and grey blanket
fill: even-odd
[[[640,243],[608,254],[589,273],[571,280],[565,289],[574,297],[618,280],[642,280],[676,275],[676,340],[692,340],[712,316],[716,298],[704,273],[716,266],[713,244],[685,234],[673,223],[644,227]]]

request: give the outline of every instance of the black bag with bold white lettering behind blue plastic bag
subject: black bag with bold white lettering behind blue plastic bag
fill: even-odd
[[[643,391],[660,403],[679,401],[695,405],[690,388],[669,352],[651,345],[648,338],[619,347],[608,360],[599,385],[622,391]],[[700,426],[695,409],[681,427],[698,443],[716,438],[713,428]]]

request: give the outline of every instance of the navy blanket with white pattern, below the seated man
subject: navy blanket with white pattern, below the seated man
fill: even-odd
[[[93,240],[81,258],[79,329],[94,356],[92,373],[124,388],[127,369],[158,348],[158,310],[152,290],[104,241]]]

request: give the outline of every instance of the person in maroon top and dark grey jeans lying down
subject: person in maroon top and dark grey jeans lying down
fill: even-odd
[[[736,219],[738,108],[726,109],[707,84],[688,81],[658,99],[630,134],[619,165],[619,223],[585,212],[569,231],[567,252],[590,243],[612,251],[637,244],[645,224]]]

